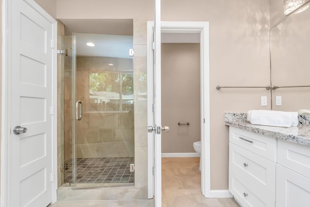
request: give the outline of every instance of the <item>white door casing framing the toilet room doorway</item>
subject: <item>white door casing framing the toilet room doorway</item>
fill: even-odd
[[[153,28],[154,23],[149,22],[148,24],[148,56],[152,55],[152,44],[153,44]],[[167,34],[173,39],[173,34],[178,34],[182,39],[186,37],[193,39],[194,37],[199,38],[200,43],[200,121],[201,126],[201,191],[205,197],[210,197],[210,97],[209,97],[209,25],[208,22],[161,22],[161,34]],[[186,43],[186,40],[185,42]],[[148,60],[148,73],[152,74],[152,59]],[[150,79],[150,78],[149,78]],[[152,87],[148,87],[148,94],[153,95]],[[162,89],[164,90],[164,89]],[[152,126],[152,105],[148,104],[148,125]],[[163,123],[164,124],[164,123]],[[149,134],[148,142],[148,172],[149,172],[149,197],[153,194],[153,187],[156,186],[154,182],[153,168],[154,168],[154,157],[161,157],[154,153],[154,145],[152,143],[152,134]],[[155,169],[155,177],[158,169]],[[152,179],[153,178],[153,179]],[[158,179],[157,179],[158,180]]]

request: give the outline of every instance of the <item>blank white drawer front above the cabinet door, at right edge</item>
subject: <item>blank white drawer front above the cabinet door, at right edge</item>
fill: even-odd
[[[278,140],[278,163],[310,178],[310,146]]]

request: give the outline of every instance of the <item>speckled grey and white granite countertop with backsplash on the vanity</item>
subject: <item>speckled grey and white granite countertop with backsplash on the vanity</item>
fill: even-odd
[[[270,127],[247,122],[247,113],[225,112],[225,125],[310,146],[310,115],[298,116],[297,127]]]

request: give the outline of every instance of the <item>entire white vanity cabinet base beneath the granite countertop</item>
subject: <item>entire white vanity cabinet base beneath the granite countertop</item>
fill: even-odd
[[[310,207],[310,146],[229,128],[229,191],[242,207]]]

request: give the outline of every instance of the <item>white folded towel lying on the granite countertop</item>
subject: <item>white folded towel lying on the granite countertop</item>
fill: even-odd
[[[291,127],[298,125],[298,113],[290,111],[251,110],[247,121],[254,125]]]

